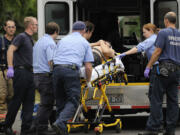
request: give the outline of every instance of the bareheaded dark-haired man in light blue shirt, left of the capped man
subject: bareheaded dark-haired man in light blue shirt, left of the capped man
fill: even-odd
[[[46,26],[46,34],[33,47],[34,83],[40,93],[40,107],[37,112],[38,135],[48,134],[48,118],[53,110],[54,94],[51,76],[51,62],[55,39],[60,31],[59,25],[50,22]]]

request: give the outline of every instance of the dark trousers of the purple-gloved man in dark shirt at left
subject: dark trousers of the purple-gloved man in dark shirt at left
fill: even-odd
[[[13,78],[14,96],[9,103],[5,126],[11,128],[22,105],[21,131],[27,131],[32,124],[34,108],[33,73],[27,69],[15,69]]]

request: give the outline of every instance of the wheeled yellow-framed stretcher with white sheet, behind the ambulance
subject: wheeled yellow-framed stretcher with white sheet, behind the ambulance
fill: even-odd
[[[72,119],[72,121],[67,123],[68,131],[70,132],[71,128],[84,127],[84,131],[88,132],[90,126],[95,124],[95,132],[96,134],[101,134],[103,131],[103,127],[116,126],[116,132],[120,132],[122,128],[121,120],[114,117],[112,108],[109,104],[108,97],[106,95],[106,86],[110,83],[115,83],[117,78],[118,80],[127,83],[127,77],[124,73],[124,65],[121,60],[116,57],[114,59],[110,59],[102,65],[96,66],[93,68],[92,77],[91,77],[91,85],[93,88],[87,88],[86,86],[86,76],[85,76],[85,68],[81,68],[80,70],[81,76],[81,98],[80,105]],[[93,96],[88,99],[89,89],[93,89]],[[97,93],[100,93],[98,95]],[[86,114],[88,112],[88,107],[86,106],[86,101],[88,100],[98,100],[97,110],[95,114],[95,118],[88,119]],[[102,116],[105,110],[111,115],[111,119],[113,119],[114,123],[104,123],[102,121]]]

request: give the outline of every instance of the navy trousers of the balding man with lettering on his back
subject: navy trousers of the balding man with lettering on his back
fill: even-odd
[[[163,95],[167,97],[166,131],[174,132],[179,115],[178,107],[178,80],[179,72],[173,72],[168,77],[155,75],[150,96],[150,116],[147,121],[147,130],[159,131],[162,125]]]

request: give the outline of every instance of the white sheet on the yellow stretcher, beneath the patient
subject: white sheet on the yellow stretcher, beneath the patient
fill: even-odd
[[[93,68],[93,70],[92,70],[92,76],[91,76],[91,81],[94,81],[94,80],[96,80],[98,77],[101,77],[101,76],[103,76],[104,74],[109,73],[109,67],[108,67],[108,65],[105,64],[105,67],[104,67],[105,73],[104,73],[104,71],[103,71],[103,65],[104,65],[104,64],[101,64],[101,65],[98,65],[98,66],[96,66],[96,67]],[[117,69],[117,70],[124,71],[124,65],[123,65],[122,61],[121,61],[119,58],[115,58],[115,65],[118,66],[118,69]],[[114,71],[114,70],[115,70],[115,68],[114,68],[114,62],[110,62],[110,69],[111,69],[111,71]],[[80,69],[80,77],[86,79],[85,67],[81,67],[81,69]]]

